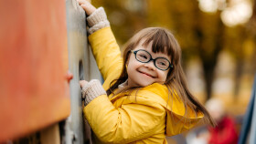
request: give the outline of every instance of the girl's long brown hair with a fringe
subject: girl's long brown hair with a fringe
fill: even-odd
[[[190,93],[187,87],[186,76],[181,67],[181,48],[176,41],[175,36],[162,27],[144,28],[126,43],[123,47],[122,73],[118,79],[112,81],[110,88],[107,90],[107,94],[110,95],[113,93],[114,89],[118,88],[120,84],[128,79],[127,67],[125,67],[126,62],[131,54],[130,51],[133,50],[135,46],[138,46],[142,39],[144,39],[143,46],[147,46],[151,41],[153,41],[152,51],[154,53],[161,52],[170,57],[173,68],[169,70],[165,80],[165,85],[168,87],[170,95],[174,96],[174,92],[176,92],[177,96],[183,101],[186,109],[189,107],[192,108],[195,113],[198,111],[202,112],[205,115],[204,120],[212,126],[215,126],[216,123],[209,115],[208,110],[198,102],[197,98]]]

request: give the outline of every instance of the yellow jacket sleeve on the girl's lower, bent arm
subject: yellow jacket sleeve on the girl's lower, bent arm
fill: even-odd
[[[85,117],[101,142],[129,143],[165,130],[165,108],[146,98],[138,97],[136,101],[115,108],[106,95],[101,95],[84,108]]]

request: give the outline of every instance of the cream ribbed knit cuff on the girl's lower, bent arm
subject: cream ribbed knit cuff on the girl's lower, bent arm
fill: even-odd
[[[85,98],[85,106],[88,105],[91,100],[101,95],[106,95],[106,91],[101,86],[101,82],[98,79],[91,80],[86,86],[81,88],[82,98]]]

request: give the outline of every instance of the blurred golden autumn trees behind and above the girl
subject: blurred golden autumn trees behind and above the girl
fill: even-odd
[[[92,0],[103,6],[119,45],[148,26],[168,28],[183,51],[189,87],[203,103],[221,98],[242,115],[256,70],[255,0]]]

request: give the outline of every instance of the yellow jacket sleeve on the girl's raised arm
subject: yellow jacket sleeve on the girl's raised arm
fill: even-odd
[[[93,56],[105,80],[103,87],[120,76],[123,67],[121,51],[112,34],[111,27],[104,27],[89,36]]]

